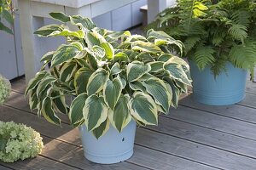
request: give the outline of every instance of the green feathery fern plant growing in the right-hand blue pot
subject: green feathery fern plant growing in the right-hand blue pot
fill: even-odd
[[[150,25],[184,42],[184,56],[216,77],[230,61],[253,71],[256,65],[254,0],[177,0]]]

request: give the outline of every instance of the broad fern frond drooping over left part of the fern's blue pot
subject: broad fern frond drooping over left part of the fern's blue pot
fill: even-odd
[[[212,65],[215,61],[214,53],[215,50],[211,46],[201,45],[196,48],[193,59],[200,70],[205,69],[207,65]]]

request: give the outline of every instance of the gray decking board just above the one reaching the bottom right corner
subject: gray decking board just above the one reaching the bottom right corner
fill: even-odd
[[[160,116],[157,127],[147,127],[156,132],[165,133],[179,139],[189,140],[219,150],[227,150],[242,156],[256,158],[256,141],[240,138],[227,133],[220,133],[205,127],[191,125]],[[168,126],[166,126],[168,124]]]

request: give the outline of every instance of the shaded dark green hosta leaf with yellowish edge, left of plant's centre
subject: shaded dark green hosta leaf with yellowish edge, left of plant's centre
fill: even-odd
[[[86,91],[87,83],[88,83],[89,78],[92,75],[92,73],[93,73],[93,71],[91,71],[87,67],[83,67],[75,73],[74,87],[75,87],[77,94],[83,94],[83,93],[87,92]]]

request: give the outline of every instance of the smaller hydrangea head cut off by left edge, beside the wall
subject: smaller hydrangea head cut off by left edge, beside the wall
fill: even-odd
[[[9,97],[11,91],[11,84],[9,80],[0,75],[0,105]]]

